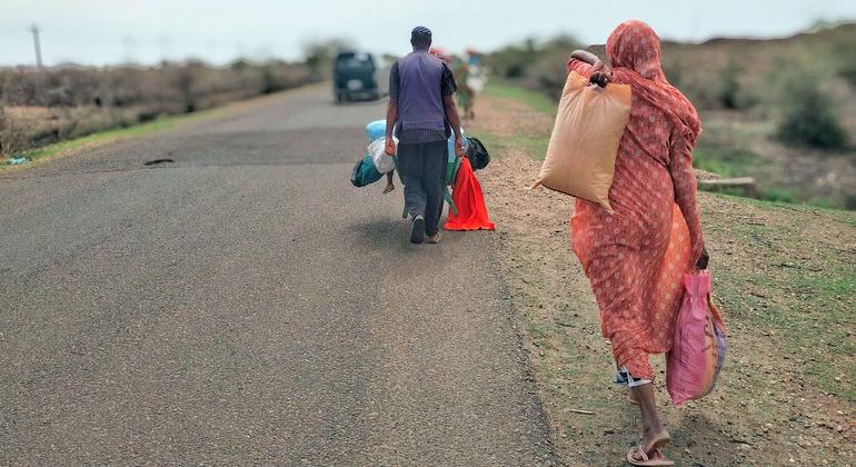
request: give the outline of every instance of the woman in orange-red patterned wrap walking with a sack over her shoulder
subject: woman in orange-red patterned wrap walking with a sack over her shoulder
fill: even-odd
[[[611,67],[575,51],[568,72],[630,85],[630,119],[618,147],[609,190],[614,213],[577,200],[574,251],[588,276],[610,340],[617,381],[641,409],[641,444],[627,453],[634,465],[674,465],[654,397],[650,354],[671,348],[683,296],[683,275],[707,267],[693,172],[693,146],[701,131],[696,109],[666,80],[659,38],[641,21],[626,21],[606,43]]]

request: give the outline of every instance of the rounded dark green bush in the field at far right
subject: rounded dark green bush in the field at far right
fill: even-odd
[[[789,145],[840,149],[847,133],[835,112],[835,102],[820,89],[819,79],[803,73],[785,82],[778,138]]]

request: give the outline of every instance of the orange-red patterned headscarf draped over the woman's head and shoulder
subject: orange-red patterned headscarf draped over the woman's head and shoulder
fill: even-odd
[[[657,33],[643,21],[625,21],[609,34],[606,53],[618,81],[629,83],[634,97],[663,111],[695,143],[701,121],[693,103],[666,79]]]

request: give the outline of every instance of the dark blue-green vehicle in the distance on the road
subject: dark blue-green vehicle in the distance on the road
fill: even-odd
[[[341,52],[336,56],[332,86],[337,103],[380,99],[377,69],[371,53]]]

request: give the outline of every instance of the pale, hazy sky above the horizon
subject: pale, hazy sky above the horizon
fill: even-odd
[[[0,64],[34,63],[33,23],[46,64],[101,66],[299,60],[308,42],[332,37],[405,54],[418,24],[449,52],[559,33],[603,43],[626,19],[674,40],[783,37],[818,21],[856,21],[856,0],[0,0]]]

